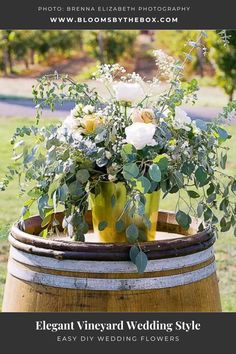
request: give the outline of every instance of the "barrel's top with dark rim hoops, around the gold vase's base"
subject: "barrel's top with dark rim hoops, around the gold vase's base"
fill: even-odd
[[[63,213],[56,218],[61,225]],[[86,215],[87,222],[92,226],[91,212]],[[207,227],[197,232],[197,222],[189,230],[183,230],[175,219],[175,213],[159,211],[157,224],[157,240],[140,243],[149,259],[178,257],[203,251],[215,241],[214,232]],[[42,238],[41,218],[33,216],[25,221],[24,231],[20,223],[13,225],[9,241],[17,249],[28,253],[61,258],[81,260],[129,260],[128,243],[75,242],[65,237]],[[159,234],[162,234],[160,239]],[[163,238],[163,235],[165,236]]]

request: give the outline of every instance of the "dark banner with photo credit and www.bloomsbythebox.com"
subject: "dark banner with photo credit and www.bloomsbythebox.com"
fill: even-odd
[[[7,0],[1,29],[235,29],[235,0]]]

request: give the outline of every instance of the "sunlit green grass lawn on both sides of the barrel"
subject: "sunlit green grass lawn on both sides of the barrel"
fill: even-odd
[[[34,120],[32,120],[33,122]],[[30,123],[29,119],[0,118],[0,180],[4,176],[4,171],[10,162],[11,145],[9,141],[11,136],[17,126]],[[42,120],[42,124],[45,124],[45,121]],[[233,138],[229,144],[231,151],[228,159],[228,171],[235,174],[236,127],[231,126],[229,130]],[[167,198],[162,201],[161,208],[173,210],[173,205],[173,199]],[[17,182],[12,183],[7,191],[0,192],[0,306],[2,303],[9,249],[7,242],[8,229],[19,217],[21,206],[22,199],[18,198]],[[231,233],[220,235],[215,249],[223,310],[236,311],[236,239]]]

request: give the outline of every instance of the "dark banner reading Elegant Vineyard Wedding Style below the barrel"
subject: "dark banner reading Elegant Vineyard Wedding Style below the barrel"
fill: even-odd
[[[13,352],[129,347],[219,353],[234,347],[235,313],[24,313],[0,315],[1,346]]]

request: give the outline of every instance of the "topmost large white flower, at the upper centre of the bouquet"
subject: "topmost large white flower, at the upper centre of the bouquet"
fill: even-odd
[[[138,83],[118,82],[113,85],[117,101],[140,102],[145,93]]]

